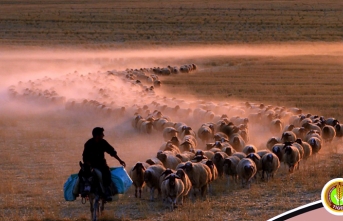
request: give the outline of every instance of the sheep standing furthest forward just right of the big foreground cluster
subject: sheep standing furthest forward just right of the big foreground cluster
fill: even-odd
[[[242,187],[244,188],[245,185],[248,185],[250,189],[251,179],[257,172],[255,162],[249,158],[243,158],[238,162],[236,170],[237,175],[242,180]]]

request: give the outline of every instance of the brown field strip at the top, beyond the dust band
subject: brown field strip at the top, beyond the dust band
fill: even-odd
[[[10,45],[108,48],[108,44],[140,47],[343,38],[343,3],[338,0],[4,0],[0,4],[0,43]]]

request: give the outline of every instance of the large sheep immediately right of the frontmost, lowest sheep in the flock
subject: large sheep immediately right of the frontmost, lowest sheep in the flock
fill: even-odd
[[[181,167],[188,175],[192,183],[193,196],[196,196],[196,190],[200,191],[201,196],[206,196],[208,184],[211,182],[212,173],[208,166],[203,163],[187,162]]]

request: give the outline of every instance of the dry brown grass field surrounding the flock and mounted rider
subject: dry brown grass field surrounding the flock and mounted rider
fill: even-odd
[[[1,1],[0,220],[89,220],[88,204],[79,198],[66,202],[63,184],[78,171],[83,144],[95,126],[105,128],[105,139],[127,170],[154,156],[163,142],[160,133],[135,131],[131,116],[113,119],[12,99],[10,85],[32,81],[43,88],[37,80],[43,76],[68,84],[68,73],[100,76],[108,70],[195,63],[196,72],[161,77],[156,94],[299,107],[343,121],[342,4]],[[68,97],[85,98],[96,86],[68,89]],[[128,106],[147,102],[127,96],[131,88],[121,90],[114,93],[122,93],[120,100]],[[189,122],[194,127],[203,123]],[[252,134],[252,140],[266,141],[267,135],[258,136]],[[330,151],[336,146],[338,153]],[[107,160],[118,166],[116,160]],[[292,175],[281,167],[273,180],[257,180],[249,190],[217,180],[206,200],[186,200],[174,212],[159,200],[148,201],[148,192],[134,198],[131,188],[106,204],[102,220],[267,220],[320,200],[325,183],[343,176],[342,162],[342,140],[337,139],[323,147],[319,159],[301,164]]]

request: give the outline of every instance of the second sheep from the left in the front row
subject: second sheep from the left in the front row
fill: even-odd
[[[151,165],[144,172],[144,181],[150,188],[150,200],[154,201],[154,191],[158,190],[158,194],[161,195],[160,176],[165,171],[165,167],[159,164]]]

